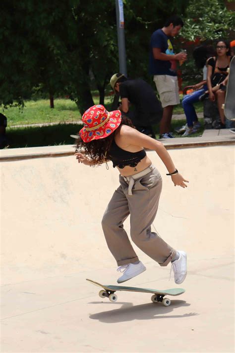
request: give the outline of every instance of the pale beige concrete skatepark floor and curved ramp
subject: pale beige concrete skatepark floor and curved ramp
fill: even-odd
[[[234,352],[234,146],[169,152],[190,181],[185,189],[147,152],[163,176],[153,231],[188,256],[179,285],[186,291],[169,297],[169,307],[124,291],[112,303],[85,280],[117,283],[101,228],[118,186],[111,163],[109,170],[74,156],[0,163],[0,352]],[[129,234],[129,218],[124,226]],[[170,265],[134,249],[147,270],[124,285],[177,287]]]

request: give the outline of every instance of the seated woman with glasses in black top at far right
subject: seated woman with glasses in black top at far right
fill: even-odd
[[[221,127],[223,128],[225,127],[225,114],[222,105],[225,102],[228,68],[231,62],[230,43],[224,39],[218,40],[216,53],[216,57],[210,58],[207,63],[207,87],[210,100],[217,100]]]

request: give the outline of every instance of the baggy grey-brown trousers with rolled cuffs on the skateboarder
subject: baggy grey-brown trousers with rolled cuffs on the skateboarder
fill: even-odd
[[[152,166],[153,167],[153,166]],[[128,194],[128,181],[119,176],[120,185],[115,190],[102,219],[102,227],[108,247],[117,265],[138,261],[129,238],[123,228],[124,220],[130,215],[130,237],[150,258],[166,266],[176,251],[158,234],[151,232],[162,190],[162,177],[156,168],[132,180],[132,195]],[[129,190],[130,191],[130,190]]]

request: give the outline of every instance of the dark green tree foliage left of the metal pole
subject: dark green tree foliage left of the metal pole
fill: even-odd
[[[0,103],[22,104],[38,86],[68,94],[81,111],[93,104],[91,71],[98,88],[104,87],[117,60],[112,3],[3,0]]]

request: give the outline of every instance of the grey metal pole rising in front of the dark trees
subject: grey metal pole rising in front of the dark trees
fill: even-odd
[[[125,54],[125,32],[124,32],[124,14],[122,0],[116,0],[117,17],[117,42],[119,56],[119,72],[127,77],[126,54]]]

